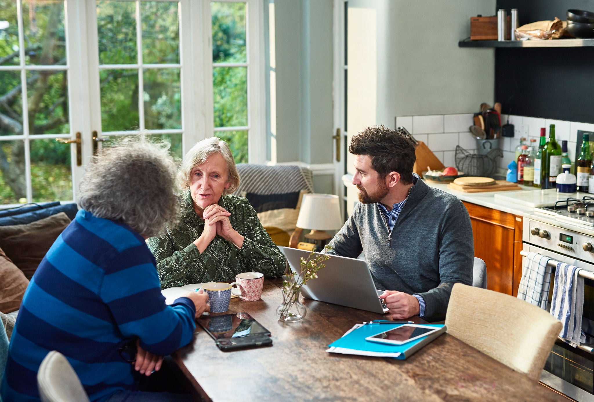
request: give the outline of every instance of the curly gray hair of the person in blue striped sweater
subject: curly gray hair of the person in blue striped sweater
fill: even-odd
[[[176,165],[169,144],[125,138],[104,148],[80,183],[78,204],[94,216],[121,221],[141,236],[154,236],[175,222]]]

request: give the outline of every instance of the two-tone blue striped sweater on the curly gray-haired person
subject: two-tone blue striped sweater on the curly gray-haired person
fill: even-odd
[[[165,305],[153,255],[126,224],[80,210],[37,268],[12,333],[2,401],[39,401],[37,370],[58,350],[91,401],[137,389],[140,375],[119,348],[140,338],[165,356],[189,343],[194,303]]]

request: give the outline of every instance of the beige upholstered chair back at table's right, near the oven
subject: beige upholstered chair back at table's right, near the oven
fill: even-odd
[[[445,315],[447,333],[538,381],[561,321],[504,293],[454,284]]]

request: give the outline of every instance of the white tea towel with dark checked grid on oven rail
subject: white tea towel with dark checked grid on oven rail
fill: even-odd
[[[518,299],[546,310],[551,286],[551,266],[549,258],[535,252],[529,252],[526,265],[522,270],[522,280],[518,287]]]

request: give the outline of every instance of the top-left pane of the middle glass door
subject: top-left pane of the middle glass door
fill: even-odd
[[[133,1],[97,1],[99,64],[136,64],[136,7]]]

